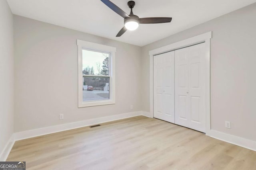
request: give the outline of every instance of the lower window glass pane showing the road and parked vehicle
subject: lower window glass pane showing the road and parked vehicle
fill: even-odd
[[[83,76],[83,101],[109,100],[109,77]]]

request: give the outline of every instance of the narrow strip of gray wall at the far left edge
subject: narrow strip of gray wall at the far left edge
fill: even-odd
[[[0,0],[0,156],[13,131],[13,17],[6,0]]]

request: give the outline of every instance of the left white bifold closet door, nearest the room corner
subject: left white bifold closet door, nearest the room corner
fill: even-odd
[[[174,123],[174,51],[154,56],[154,117]]]

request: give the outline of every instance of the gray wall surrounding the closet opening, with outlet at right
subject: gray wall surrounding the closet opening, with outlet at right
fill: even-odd
[[[150,109],[148,51],[212,31],[212,129],[256,141],[255,17],[256,3],[142,47],[143,110]]]

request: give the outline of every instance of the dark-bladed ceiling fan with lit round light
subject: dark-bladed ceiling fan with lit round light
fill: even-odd
[[[140,23],[167,23],[171,22],[172,18],[170,17],[152,17],[152,18],[139,18],[134,15],[132,12],[132,8],[135,6],[134,1],[129,1],[127,4],[131,9],[130,15],[126,14],[123,10],[121,10],[118,6],[113,4],[109,0],[101,0],[106,6],[108,6],[111,10],[116,12],[118,15],[124,18],[124,27],[118,32],[116,37],[120,37],[125,33],[125,31],[130,30],[133,31],[138,28]]]

